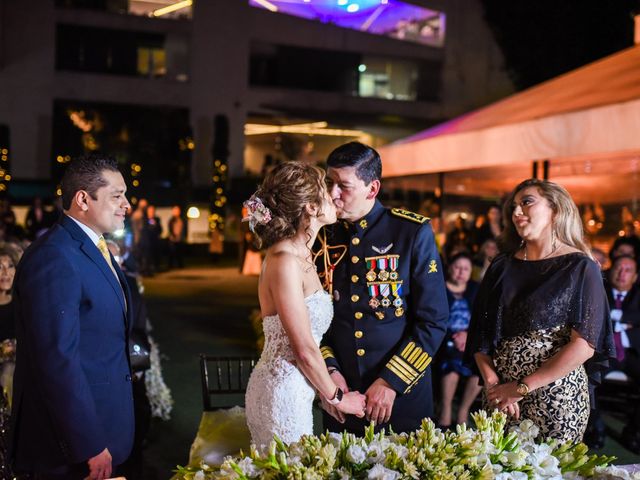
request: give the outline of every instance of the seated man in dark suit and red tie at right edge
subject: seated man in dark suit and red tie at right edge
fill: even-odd
[[[609,361],[609,369],[622,370],[640,385],[640,288],[637,279],[636,260],[629,255],[618,256],[613,259],[606,291],[616,345],[616,359]],[[589,419],[589,435],[585,438],[591,448],[602,448],[604,430],[596,403]],[[622,443],[640,454],[640,407],[629,417],[622,433]]]

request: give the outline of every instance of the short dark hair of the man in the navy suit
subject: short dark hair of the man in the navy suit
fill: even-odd
[[[69,210],[74,195],[85,190],[94,200],[98,189],[107,185],[102,172],[119,172],[118,162],[106,155],[83,155],[74,158],[62,177],[62,208]]]

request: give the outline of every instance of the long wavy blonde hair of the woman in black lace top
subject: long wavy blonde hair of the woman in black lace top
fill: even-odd
[[[528,187],[537,188],[540,195],[549,202],[554,212],[553,229],[557,239],[593,258],[591,249],[584,240],[584,228],[582,219],[580,218],[580,212],[569,192],[557,183],[548,180],[538,180],[536,178],[521,182],[509,194],[502,206],[502,218],[504,219],[505,227],[498,238],[500,251],[514,253],[522,245],[522,238],[518,235],[512,220],[515,209],[513,202],[518,192]]]

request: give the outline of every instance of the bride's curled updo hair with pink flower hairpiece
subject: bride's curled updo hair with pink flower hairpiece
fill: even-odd
[[[305,205],[320,207],[326,188],[324,171],[305,163],[282,163],[267,173],[251,200],[245,202],[245,205],[254,206],[248,207],[250,217],[252,211],[254,216],[256,214],[256,202],[268,209],[258,205],[259,218],[254,222],[253,232],[259,245],[269,248],[280,240],[293,237],[307,217]]]

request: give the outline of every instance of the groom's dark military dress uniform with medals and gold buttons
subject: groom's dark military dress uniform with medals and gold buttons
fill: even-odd
[[[390,425],[396,432],[418,428],[433,415],[429,365],[449,315],[429,219],[376,200],[361,220],[324,227],[315,254],[334,300],[321,344],[327,367],[362,393],[386,380],[397,392]],[[342,425],[326,413],[324,422],[331,431],[359,435],[368,425],[355,416]]]

